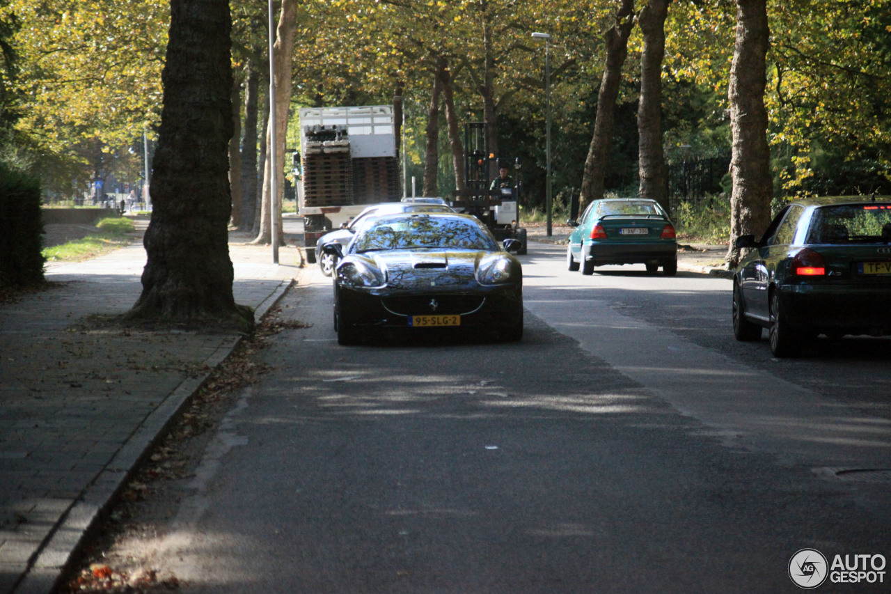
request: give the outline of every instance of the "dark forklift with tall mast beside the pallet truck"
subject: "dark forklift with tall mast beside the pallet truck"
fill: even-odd
[[[514,169],[513,187],[500,187],[490,190],[492,177],[489,169],[492,162],[498,168]],[[455,190],[454,210],[465,212],[481,220],[499,242],[517,239],[523,246],[519,254],[527,252],[526,229],[519,227],[519,194],[522,184],[519,181],[519,158],[495,158],[489,153],[486,143],[485,122],[469,122],[464,125],[464,192]]]

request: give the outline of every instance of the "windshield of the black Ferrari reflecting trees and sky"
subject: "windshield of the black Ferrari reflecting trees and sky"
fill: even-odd
[[[497,250],[498,244],[474,219],[415,214],[375,219],[356,237],[355,245],[359,253],[424,248]]]

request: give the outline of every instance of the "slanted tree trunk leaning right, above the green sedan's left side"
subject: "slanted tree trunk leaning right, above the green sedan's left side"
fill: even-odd
[[[616,99],[622,83],[622,66],[628,55],[628,36],[634,27],[634,0],[621,0],[616,24],[604,37],[607,50],[606,68],[603,70],[601,89],[597,94],[597,116],[588,157],[584,161],[582,191],[579,212],[592,201],[603,197],[603,179],[606,177],[607,159],[612,148]]]

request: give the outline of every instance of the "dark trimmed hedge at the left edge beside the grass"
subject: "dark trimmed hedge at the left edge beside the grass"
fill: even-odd
[[[0,288],[44,280],[40,182],[0,163]]]

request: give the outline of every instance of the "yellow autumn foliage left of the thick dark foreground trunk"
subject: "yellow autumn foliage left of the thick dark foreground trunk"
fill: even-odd
[[[11,0],[19,129],[47,150],[126,144],[157,122],[166,0]]]

